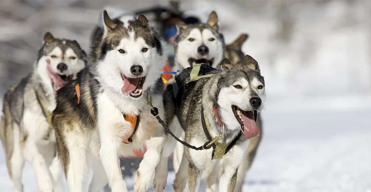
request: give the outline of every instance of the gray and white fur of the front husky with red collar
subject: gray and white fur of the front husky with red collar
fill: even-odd
[[[184,95],[177,103],[172,102],[172,86],[167,86],[164,93],[164,100],[167,101],[165,103],[165,110],[167,110],[168,122],[170,125],[174,123],[178,124],[178,127],[183,128],[187,143],[200,146],[207,140],[201,128],[201,106],[204,107],[204,114],[210,121],[212,137],[219,135],[221,131],[221,126],[217,123],[217,119],[213,113],[213,106],[217,106],[220,119],[226,127],[224,131],[224,143],[232,141],[240,131],[240,124],[238,124],[233,115],[232,105],[237,105],[243,110],[262,109],[263,104],[259,109],[252,109],[252,106],[248,102],[250,97],[253,96],[260,97],[262,103],[265,101],[265,90],[257,89],[259,85],[265,86],[264,79],[260,75],[257,62],[251,59],[247,55],[243,65],[232,65],[229,61],[222,62],[223,70],[217,71],[214,69],[210,72],[215,73],[211,78],[200,79],[195,83],[188,83],[187,86],[184,86]],[[182,76],[183,74],[188,75],[187,70],[189,71],[191,69],[187,68],[180,73],[175,78],[177,82],[180,79],[186,80],[188,78],[187,76]],[[236,83],[244,87],[243,93],[234,90],[233,85]],[[237,168],[243,161],[248,146],[249,140],[240,138],[232,149],[220,160],[221,176],[219,191],[234,191]],[[180,168],[175,176],[175,191],[182,191],[184,187],[188,191],[198,191],[203,172],[211,172],[214,164],[219,161],[211,160],[211,153],[211,149],[195,151],[184,147],[183,157],[186,158],[182,158]],[[185,178],[187,178],[187,186],[185,186]]]

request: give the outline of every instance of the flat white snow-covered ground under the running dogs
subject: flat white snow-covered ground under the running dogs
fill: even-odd
[[[371,110],[263,114],[264,135],[244,191],[366,192],[371,190]],[[0,151],[3,156],[3,151]],[[12,191],[4,157],[0,186]],[[173,191],[169,173],[165,191]],[[132,178],[125,178],[132,190]],[[26,165],[25,192],[36,192]]]

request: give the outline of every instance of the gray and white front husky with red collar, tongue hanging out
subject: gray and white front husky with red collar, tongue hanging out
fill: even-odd
[[[168,124],[170,127],[182,127],[187,143],[200,146],[217,136],[223,136],[223,140],[219,141],[221,149],[224,147],[221,156],[216,145],[216,148],[213,146],[201,151],[184,147],[183,158],[175,176],[175,191],[183,191],[185,181],[188,191],[198,191],[203,172],[220,162],[222,170],[219,191],[233,192],[237,168],[243,161],[249,138],[259,134],[253,111],[263,108],[265,83],[257,62],[246,55],[242,65],[232,65],[228,59],[224,59],[221,65],[221,71],[201,65],[200,71],[207,71],[202,75],[214,75],[193,83],[181,83],[189,79],[192,70],[184,69],[175,77],[177,96],[174,96],[173,86],[168,85],[165,90]],[[204,123],[206,121],[208,123]],[[208,130],[207,133],[205,130]],[[214,159],[217,154],[220,161]]]

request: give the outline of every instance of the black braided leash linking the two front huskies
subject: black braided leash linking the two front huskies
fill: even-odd
[[[157,109],[157,107],[152,106],[152,98],[150,96],[149,90],[147,91],[147,97],[146,98],[147,98],[148,105],[151,107],[151,114],[154,117],[156,117],[158,123],[160,123],[162,125],[162,127],[165,128],[165,130],[166,130],[167,133],[169,133],[172,137],[174,137],[175,140],[177,140],[179,143],[183,144],[185,147],[188,147],[188,148],[191,148],[191,149],[194,149],[194,150],[197,150],[197,151],[207,150],[207,149],[210,149],[211,148],[211,145],[216,141],[216,139],[214,139],[212,141],[206,141],[205,144],[203,144],[202,146],[196,147],[194,145],[188,144],[185,141],[180,140],[180,138],[178,138],[177,136],[175,136],[173,134],[173,132],[171,132],[171,130],[166,126],[165,122],[158,115],[158,109]]]

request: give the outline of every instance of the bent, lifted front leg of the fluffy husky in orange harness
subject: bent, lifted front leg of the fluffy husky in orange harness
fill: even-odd
[[[161,158],[164,141],[165,133],[161,133],[161,136],[151,137],[145,142],[147,151],[134,178],[134,192],[143,192],[150,188],[155,168]]]

